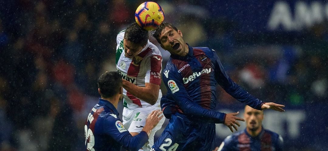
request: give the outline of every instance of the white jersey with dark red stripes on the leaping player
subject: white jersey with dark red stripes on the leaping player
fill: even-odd
[[[145,46],[141,52],[133,58],[124,55],[123,38],[125,30],[121,31],[116,38],[116,70],[123,79],[137,85],[145,87],[145,83],[160,85],[162,70],[162,55],[159,49],[151,42]],[[149,103],[136,98],[131,93],[123,89],[123,105],[129,109],[152,106]],[[154,106],[159,106],[162,92],[159,90],[157,102]]]

